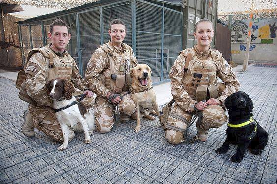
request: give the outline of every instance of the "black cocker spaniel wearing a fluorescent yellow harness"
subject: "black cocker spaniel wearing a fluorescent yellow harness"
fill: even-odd
[[[231,157],[233,162],[241,162],[245,149],[249,148],[254,155],[260,155],[267,144],[268,133],[253,119],[253,103],[245,92],[239,91],[226,98],[229,122],[227,138],[223,145],[215,152],[224,154],[229,149],[229,144],[237,144],[238,149]]]

